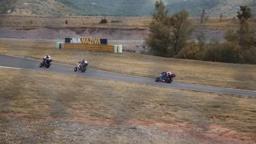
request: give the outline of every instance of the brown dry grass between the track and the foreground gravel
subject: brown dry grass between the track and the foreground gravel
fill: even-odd
[[[11,119],[41,123],[30,130],[44,131],[40,135],[44,137],[55,129],[42,121],[53,119],[135,125],[131,129],[147,125],[165,131],[189,130],[197,134],[197,139],[203,133],[211,139],[256,141],[256,99],[252,97],[26,70],[0,68],[0,74],[0,137],[6,130],[15,133],[11,129],[15,121]]]

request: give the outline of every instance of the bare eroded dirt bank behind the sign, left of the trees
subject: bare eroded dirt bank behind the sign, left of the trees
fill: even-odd
[[[2,38],[59,39],[67,37],[106,38],[108,40],[143,40],[147,28],[90,28],[90,27],[0,27]]]

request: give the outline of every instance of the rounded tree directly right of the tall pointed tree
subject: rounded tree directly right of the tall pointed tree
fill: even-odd
[[[188,16],[187,10],[181,10],[170,17],[170,24],[173,27],[173,34],[171,35],[172,56],[177,55],[193,33],[193,27],[190,26]]]

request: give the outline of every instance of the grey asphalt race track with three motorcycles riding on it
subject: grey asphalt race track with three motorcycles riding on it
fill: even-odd
[[[54,62],[54,59],[53,59],[53,62]],[[189,89],[189,90],[202,91],[202,92],[247,95],[247,96],[256,97],[256,91],[246,91],[241,89],[195,85],[192,83],[175,82],[175,79],[172,83],[155,82],[154,79],[150,79],[147,77],[118,74],[118,73],[112,73],[108,71],[95,70],[95,69],[87,69],[85,73],[81,73],[80,71],[74,72],[75,64],[71,66],[71,65],[53,63],[51,67],[48,69],[45,67],[40,68],[39,64],[40,64],[40,61],[38,60],[0,54],[0,68],[8,67],[8,68],[19,68],[19,69],[26,69],[26,70],[48,71],[56,74],[57,73],[67,74],[67,75],[91,77],[91,78],[97,78],[97,79],[141,83],[141,84],[153,85],[153,86]],[[89,67],[90,67],[90,63],[89,63]]]

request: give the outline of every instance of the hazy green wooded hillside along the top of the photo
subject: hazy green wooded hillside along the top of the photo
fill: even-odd
[[[191,17],[200,17],[206,9],[210,17],[236,16],[239,5],[248,5],[256,14],[255,0],[163,0],[170,14],[188,9]],[[149,16],[155,0],[2,0],[0,14],[88,15],[88,16]]]

